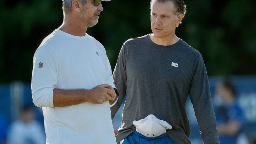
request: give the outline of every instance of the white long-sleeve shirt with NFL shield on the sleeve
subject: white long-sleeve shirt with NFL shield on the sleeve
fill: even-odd
[[[43,108],[47,144],[116,143],[109,102],[53,107],[53,89],[92,89],[113,84],[103,45],[86,34],[61,30],[47,36],[33,58],[32,98]]]

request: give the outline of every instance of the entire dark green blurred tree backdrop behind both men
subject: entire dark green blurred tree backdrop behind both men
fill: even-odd
[[[150,0],[103,2],[87,33],[101,42],[112,70],[123,42],[151,33]],[[252,0],[186,1],[176,35],[197,49],[208,75],[256,74],[255,3]],[[61,0],[0,1],[0,82],[31,81],[32,59],[43,38],[62,23]]]

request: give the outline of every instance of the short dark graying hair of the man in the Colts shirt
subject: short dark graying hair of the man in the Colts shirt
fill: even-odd
[[[173,2],[175,18],[177,18],[179,14],[183,14],[183,17],[185,17],[186,5],[184,4],[183,0],[151,0],[150,1],[151,10],[152,10],[153,3],[155,2],[159,2],[159,3]]]

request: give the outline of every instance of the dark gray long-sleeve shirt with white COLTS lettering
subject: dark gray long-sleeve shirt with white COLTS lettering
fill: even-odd
[[[127,94],[117,142],[136,130],[134,120],[154,114],[172,126],[166,133],[174,142],[190,144],[189,94],[204,143],[219,143],[203,58],[183,40],[162,46],[152,42],[149,34],[129,39],[122,46],[113,78],[120,96],[111,107],[112,119]]]

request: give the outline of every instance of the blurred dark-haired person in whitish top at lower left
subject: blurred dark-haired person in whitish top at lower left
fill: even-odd
[[[21,118],[14,121],[7,133],[8,144],[45,144],[46,136],[42,124],[35,119],[32,106],[24,106]]]

